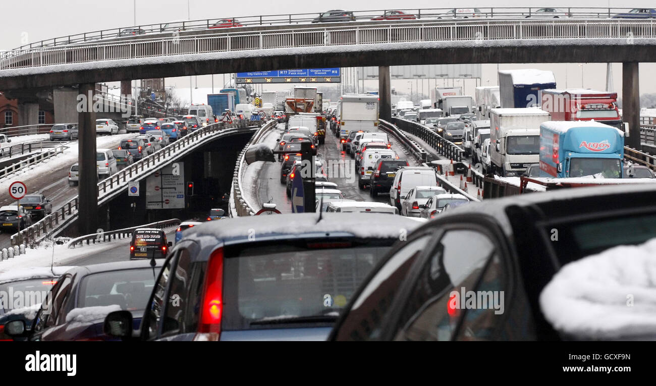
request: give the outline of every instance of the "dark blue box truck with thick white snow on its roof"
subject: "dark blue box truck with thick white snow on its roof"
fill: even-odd
[[[556,78],[551,71],[535,69],[499,71],[501,108],[540,106],[538,92],[555,88]]]

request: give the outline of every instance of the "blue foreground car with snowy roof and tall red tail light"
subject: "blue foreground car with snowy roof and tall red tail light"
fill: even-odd
[[[325,340],[350,293],[419,225],[377,213],[290,213],[194,226],[142,306],[138,340]],[[167,300],[174,294],[180,307]],[[105,325],[130,340],[134,324],[122,311]]]

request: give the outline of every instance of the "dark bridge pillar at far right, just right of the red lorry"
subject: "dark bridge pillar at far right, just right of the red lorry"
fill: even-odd
[[[638,87],[638,62],[622,64],[622,120],[628,122],[629,137],[625,146],[642,150],[640,144],[640,87]]]

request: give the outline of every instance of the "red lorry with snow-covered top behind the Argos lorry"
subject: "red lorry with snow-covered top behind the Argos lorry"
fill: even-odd
[[[623,130],[617,93],[589,89],[546,89],[540,92],[542,110],[552,121],[597,121]]]

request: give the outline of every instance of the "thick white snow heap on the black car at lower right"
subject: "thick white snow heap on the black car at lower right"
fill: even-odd
[[[583,339],[656,337],[656,239],[565,265],[540,295],[548,322]]]

